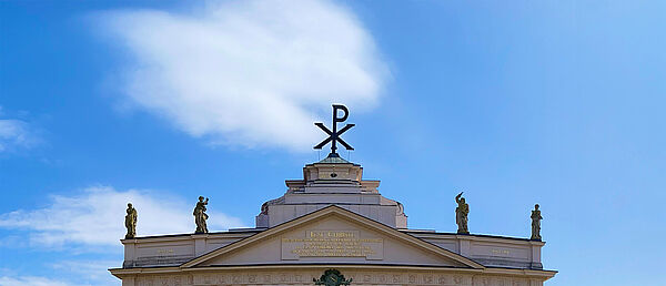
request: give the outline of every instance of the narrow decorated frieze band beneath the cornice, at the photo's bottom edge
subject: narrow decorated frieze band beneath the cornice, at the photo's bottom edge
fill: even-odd
[[[351,285],[542,286],[538,279],[417,272],[340,270]],[[314,285],[324,270],[139,276],[137,286]]]

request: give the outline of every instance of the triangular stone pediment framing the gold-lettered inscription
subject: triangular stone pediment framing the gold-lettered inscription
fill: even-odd
[[[334,205],[204,254],[181,267],[268,264],[483,268],[464,256]]]

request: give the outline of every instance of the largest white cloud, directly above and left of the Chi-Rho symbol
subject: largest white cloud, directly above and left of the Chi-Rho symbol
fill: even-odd
[[[102,13],[127,48],[130,103],[193,136],[304,152],[331,103],[376,104],[389,75],[371,34],[330,1],[225,1],[188,14]]]

